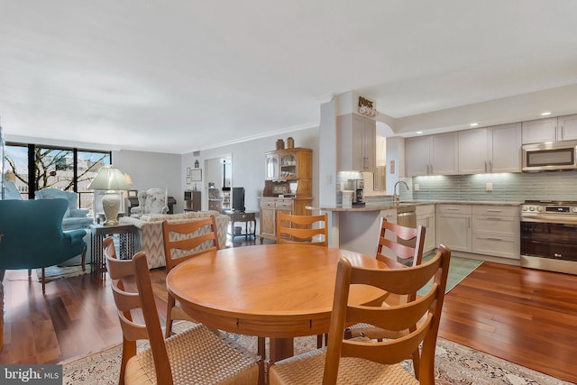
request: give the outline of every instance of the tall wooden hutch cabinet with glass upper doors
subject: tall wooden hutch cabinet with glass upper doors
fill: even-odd
[[[265,153],[265,180],[261,197],[261,243],[277,239],[277,213],[310,215],[313,151],[293,148]]]

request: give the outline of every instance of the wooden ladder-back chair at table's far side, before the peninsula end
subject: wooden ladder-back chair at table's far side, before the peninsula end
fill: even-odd
[[[316,227],[315,225],[318,225]],[[318,238],[321,237],[320,240]],[[328,246],[328,215],[277,215],[277,243]]]

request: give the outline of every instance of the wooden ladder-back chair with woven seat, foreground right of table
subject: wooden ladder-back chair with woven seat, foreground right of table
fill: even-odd
[[[274,363],[269,384],[435,384],[435,346],[444,302],[451,251],[440,245],[431,261],[406,269],[361,269],[341,258],[336,272],[333,313],[326,350],[317,349]],[[429,280],[425,296],[408,304],[364,307],[348,304],[352,285],[371,285],[397,294],[410,294]],[[417,320],[424,317],[418,324]],[[376,342],[368,338],[343,339],[349,323],[369,323],[387,330],[412,330],[404,338]],[[422,344],[420,371],[415,376],[399,362]]]

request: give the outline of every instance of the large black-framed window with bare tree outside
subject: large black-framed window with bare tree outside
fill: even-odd
[[[14,173],[23,199],[42,188],[78,192],[80,208],[92,208],[93,192],[87,190],[96,172],[111,164],[110,151],[90,151],[7,142],[5,173]]]

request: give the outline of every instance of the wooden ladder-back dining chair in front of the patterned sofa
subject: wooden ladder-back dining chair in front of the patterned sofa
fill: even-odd
[[[183,261],[188,261],[203,252],[212,252],[220,248],[216,235],[215,215],[182,223],[164,221],[162,222],[162,239],[167,274]],[[202,248],[202,251],[199,252],[198,248]],[[172,324],[175,319],[197,322],[185,313],[169,293],[165,329],[167,337],[172,334]]]

